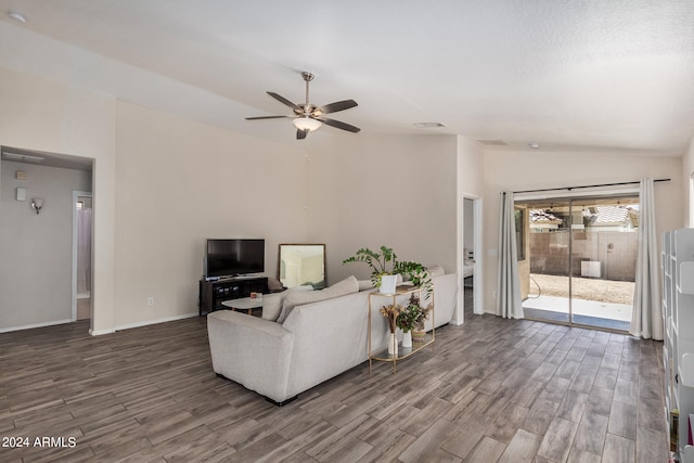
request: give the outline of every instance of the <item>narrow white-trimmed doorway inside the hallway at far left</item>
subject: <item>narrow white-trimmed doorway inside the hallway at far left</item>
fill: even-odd
[[[91,319],[92,196],[73,192],[73,321]]]

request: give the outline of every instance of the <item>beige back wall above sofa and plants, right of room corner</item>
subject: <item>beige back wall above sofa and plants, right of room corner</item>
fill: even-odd
[[[335,132],[306,141],[308,242],[326,244],[329,283],[367,279],[364,265],[342,261],[381,245],[455,271],[455,137]]]

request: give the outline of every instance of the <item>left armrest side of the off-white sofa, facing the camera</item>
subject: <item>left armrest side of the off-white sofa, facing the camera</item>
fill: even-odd
[[[282,325],[231,310],[207,316],[213,369],[282,402],[286,397],[294,334]]]

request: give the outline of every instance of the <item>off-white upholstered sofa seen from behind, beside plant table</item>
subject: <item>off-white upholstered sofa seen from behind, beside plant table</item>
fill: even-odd
[[[453,317],[458,275],[438,275],[432,281],[434,321],[440,326]],[[287,402],[369,360],[371,292],[296,306],[282,324],[229,310],[211,312],[207,330],[213,369],[278,404]],[[378,309],[389,301],[377,299],[372,301],[373,350],[385,348],[388,335],[386,319]],[[432,329],[430,318],[426,329]]]

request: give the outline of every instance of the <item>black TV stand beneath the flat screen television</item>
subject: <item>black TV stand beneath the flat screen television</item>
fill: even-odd
[[[216,281],[200,281],[200,314],[205,316],[227,307],[221,303],[248,297],[250,293],[268,293],[267,276],[234,276]]]

